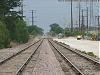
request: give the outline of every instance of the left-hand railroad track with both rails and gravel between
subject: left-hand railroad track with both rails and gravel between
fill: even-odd
[[[42,42],[43,40],[39,40],[11,57],[1,61],[0,75],[21,75]]]

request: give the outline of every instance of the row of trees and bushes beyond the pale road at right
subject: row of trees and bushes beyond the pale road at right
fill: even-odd
[[[93,30],[91,30],[93,29]],[[96,33],[94,29],[97,29],[95,27],[89,27],[89,30],[86,30],[86,27],[84,26],[83,29],[79,29],[78,27],[73,28],[73,32],[71,31],[71,28],[62,28],[61,25],[54,23],[50,25],[50,31],[48,32],[49,36],[52,37],[76,37],[76,36],[82,36],[83,39],[88,40],[100,40],[100,33]],[[93,32],[94,31],[94,32]]]

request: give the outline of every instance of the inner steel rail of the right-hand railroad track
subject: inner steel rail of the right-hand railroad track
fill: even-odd
[[[66,62],[68,62],[70,64],[70,67],[72,67],[72,69],[74,71],[76,71],[77,75],[85,75],[80,69],[78,69],[68,58],[66,58],[54,45],[53,43],[48,40],[50,42],[50,44],[57,50],[57,52],[65,59]]]

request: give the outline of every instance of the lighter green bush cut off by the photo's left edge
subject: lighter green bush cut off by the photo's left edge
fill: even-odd
[[[0,48],[9,47],[10,39],[9,32],[4,23],[0,21]]]

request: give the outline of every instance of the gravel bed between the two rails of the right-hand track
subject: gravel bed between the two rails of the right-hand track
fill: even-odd
[[[62,46],[54,43],[54,46],[61,51],[74,65],[76,65],[85,75],[99,75],[100,66],[95,65],[93,62],[80,57],[79,55],[65,49]]]

